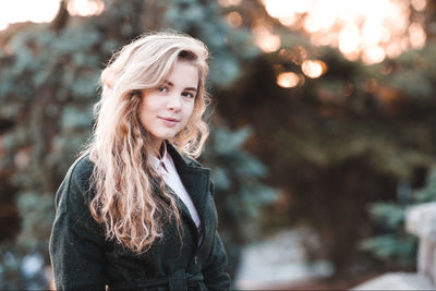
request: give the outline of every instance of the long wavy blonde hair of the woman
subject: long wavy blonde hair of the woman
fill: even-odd
[[[152,166],[150,136],[138,118],[142,92],[160,86],[177,61],[198,68],[199,80],[193,113],[169,142],[195,158],[209,134],[208,50],[202,41],[175,33],[141,36],[114,53],[100,76],[101,99],[95,106],[96,124],[86,150],[95,165],[90,213],[105,226],[107,239],[135,253],[147,251],[172,219],[179,235],[183,231],[175,201]]]

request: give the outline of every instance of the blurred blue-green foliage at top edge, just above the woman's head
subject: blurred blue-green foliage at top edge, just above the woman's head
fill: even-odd
[[[230,85],[241,73],[241,60],[258,53],[251,45],[246,29],[232,29],[221,16],[217,1],[166,0],[169,27],[196,35],[211,51],[210,81],[217,86]]]

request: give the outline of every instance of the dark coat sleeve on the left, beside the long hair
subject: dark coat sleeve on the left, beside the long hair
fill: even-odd
[[[49,252],[57,290],[105,290],[105,237],[85,203],[83,170],[81,162],[72,166],[56,195]]]

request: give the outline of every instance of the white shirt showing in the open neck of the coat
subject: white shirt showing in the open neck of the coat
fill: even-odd
[[[155,170],[160,173],[164,178],[164,181],[168,186],[182,199],[184,205],[186,205],[190,210],[191,217],[197,227],[198,233],[201,230],[201,221],[198,217],[198,213],[195,209],[194,203],[191,199],[190,194],[187,194],[186,189],[183,186],[182,181],[180,180],[179,173],[177,172],[174,162],[170,155],[167,153],[167,145],[164,143],[164,155],[161,159],[156,157],[152,158],[153,166]]]

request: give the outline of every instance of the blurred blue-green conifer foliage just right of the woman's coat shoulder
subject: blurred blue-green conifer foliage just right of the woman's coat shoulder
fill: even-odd
[[[262,182],[268,174],[266,167],[243,149],[252,134],[250,128],[230,131],[226,126],[217,126],[203,156],[204,163],[213,169],[214,195],[220,209],[220,235],[226,243],[232,274],[237,269],[242,245],[258,239],[261,210],[277,199],[276,190]]]

